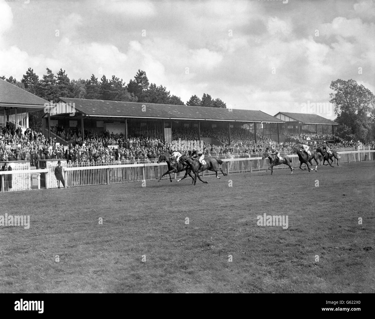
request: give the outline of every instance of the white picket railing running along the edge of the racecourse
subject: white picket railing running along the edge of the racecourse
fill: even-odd
[[[375,160],[375,150],[365,151],[346,151],[338,152],[341,156],[338,163],[360,162],[363,160]],[[300,165],[296,154],[286,154],[292,159],[292,165]],[[217,157],[215,157],[217,158]],[[253,172],[265,170],[269,167],[269,160],[262,157],[225,158],[222,159],[222,165],[219,165],[227,174]],[[314,164],[314,160],[312,161]],[[336,160],[332,163],[336,165]],[[286,165],[275,166],[274,169],[289,169]],[[100,184],[144,182],[158,179],[166,172],[166,163],[145,163],[145,164],[121,164],[121,165],[102,165],[102,166],[83,166],[69,167],[64,166],[65,187],[89,186]],[[215,172],[205,171],[202,175],[211,175]],[[219,173],[221,174],[221,173]],[[180,178],[184,172],[171,174],[172,178]],[[10,178],[10,176],[12,178]],[[33,178],[34,177],[34,178]],[[165,175],[163,179],[169,178]],[[17,183],[14,181],[17,180]],[[41,183],[41,180],[43,183]],[[0,171],[1,191],[28,190],[34,188],[57,187],[57,181],[54,176],[54,167],[46,169],[28,169],[15,171]],[[34,182],[34,183],[33,183]],[[36,184],[35,184],[36,183]],[[12,186],[11,188],[9,186]]]

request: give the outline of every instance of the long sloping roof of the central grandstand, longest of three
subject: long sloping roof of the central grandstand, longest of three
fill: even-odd
[[[85,100],[66,97],[60,97],[60,100],[65,103],[75,103],[76,112],[89,116],[284,123],[284,121],[259,110],[232,109],[229,111],[229,109],[216,107]]]

